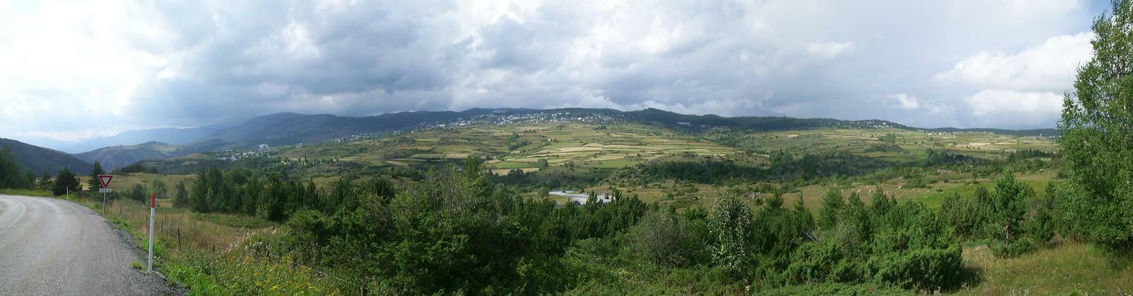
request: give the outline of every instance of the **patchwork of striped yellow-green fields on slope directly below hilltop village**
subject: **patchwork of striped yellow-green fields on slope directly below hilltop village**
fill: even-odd
[[[410,167],[479,155],[488,158],[488,168],[502,175],[511,169],[538,170],[540,160],[547,167],[621,168],[680,153],[726,155],[740,151],[641,125],[533,124],[421,129],[374,139],[288,147],[279,157]]]

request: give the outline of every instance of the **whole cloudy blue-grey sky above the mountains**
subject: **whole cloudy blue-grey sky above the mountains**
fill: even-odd
[[[1050,128],[1108,1],[0,0],[0,137],[470,108]]]

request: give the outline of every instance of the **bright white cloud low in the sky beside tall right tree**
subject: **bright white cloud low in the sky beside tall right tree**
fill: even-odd
[[[985,88],[1065,91],[1077,67],[1092,57],[1092,32],[1059,35],[1016,53],[980,51],[938,73],[939,82],[962,82]]]

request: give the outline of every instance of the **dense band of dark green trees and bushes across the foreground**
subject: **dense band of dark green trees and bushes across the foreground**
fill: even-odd
[[[207,169],[173,195],[194,211],[286,221],[252,245],[399,294],[948,289],[963,279],[963,242],[1023,254],[1050,239],[1057,221],[1051,203],[1036,202],[1011,174],[940,211],[879,188],[869,203],[832,189],[817,215],[780,195],[753,206],[724,194],[679,211],[614,191],[611,203],[557,206],[488,175],[470,157],[400,187],[341,179],[324,193],[284,174]]]

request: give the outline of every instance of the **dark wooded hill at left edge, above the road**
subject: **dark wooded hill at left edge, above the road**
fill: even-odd
[[[70,169],[76,175],[86,175],[94,168],[94,164],[61,151],[34,146],[15,139],[0,138],[0,146],[11,149],[19,166],[35,176],[40,176],[44,171],[54,175],[63,168]]]

